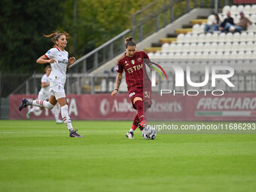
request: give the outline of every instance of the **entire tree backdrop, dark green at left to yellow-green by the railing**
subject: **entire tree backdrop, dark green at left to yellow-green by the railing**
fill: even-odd
[[[77,59],[131,27],[132,15],[155,0],[77,0]],[[0,71],[43,72],[35,63],[53,44],[42,36],[69,32],[72,56],[74,1],[2,0],[0,2]]]

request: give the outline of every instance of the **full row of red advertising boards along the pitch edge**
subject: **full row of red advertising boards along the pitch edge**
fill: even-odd
[[[26,119],[26,108],[18,110],[21,99],[37,95],[11,95],[10,119]],[[127,93],[67,95],[73,120],[133,120],[136,110]],[[153,96],[148,120],[256,120],[256,93],[225,93],[223,96]],[[30,106],[29,106],[30,107]],[[60,117],[60,113],[59,113]],[[54,119],[47,108],[31,114],[31,119]]]

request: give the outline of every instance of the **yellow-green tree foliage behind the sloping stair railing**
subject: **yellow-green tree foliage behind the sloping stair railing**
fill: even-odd
[[[77,57],[83,56],[126,29],[131,28],[132,15],[155,0],[77,0]],[[67,31],[74,36],[73,1],[66,1]],[[70,39],[69,46],[73,44]],[[72,47],[69,50],[73,52]]]

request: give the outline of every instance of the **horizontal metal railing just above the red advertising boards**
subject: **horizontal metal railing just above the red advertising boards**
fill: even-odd
[[[182,61],[182,60],[181,60]],[[254,61],[247,60],[248,63],[254,63]],[[234,68],[236,68],[235,74],[230,78],[230,81],[235,85],[235,87],[228,87],[224,81],[218,80],[216,83],[216,89],[224,90],[225,93],[234,93],[234,92],[247,92],[247,93],[256,93],[256,76],[255,71],[256,68],[250,70],[239,69],[239,66],[242,65],[242,62],[236,62],[234,64]],[[191,69],[193,69],[191,67]],[[20,87],[17,88],[13,92],[13,94],[38,94],[38,90],[40,89],[40,84],[35,88],[35,82],[39,82],[41,80],[43,74],[33,75],[31,78],[27,79]],[[161,89],[167,90],[212,90],[211,79],[209,79],[209,84],[205,87],[191,87],[189,84],[184,84],[184,87],[175,87],[175,73],[167,72],[168,80],[159,78],[159,85],[157,87],[153,87],[153,91],[159,91]],[[198,69],[193,69],[190,72],[191,81],[194,83],[203,82],[205,79],[205,72]],[[84,93],[111,93],[114,90],[116,81],[116,72],[108,73],[108,74],[68,74],[66,78],[65,90],[67,94],[84,94]],[[184,75],[184,82],[186,81],[186,75]],[[222,83],[222,84],[221,84]],[[123,81],[120,84],[119,88],[120,93],[126,93],[126,81],[125,77],[123,77]]]

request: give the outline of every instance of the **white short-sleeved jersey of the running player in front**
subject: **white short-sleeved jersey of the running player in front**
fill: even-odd
[[[69,64],[69,53],[66,50],[60,50],[59,47],[54,47],[48,50],[44,55],[48,59],[56,60],[56,62],[50,63],[50,80],[64,88],[66,82],[66,70]]]

